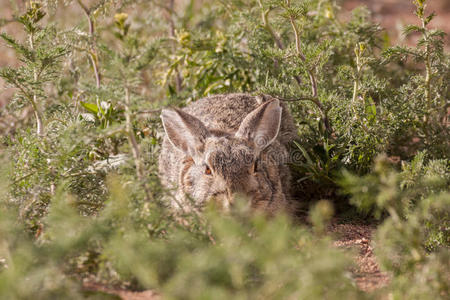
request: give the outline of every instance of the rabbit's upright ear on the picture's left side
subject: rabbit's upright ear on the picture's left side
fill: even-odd
[[[164,109],[161,119],[169,141],[196,160],[203,153],[209,131],[196,117],[179,109]]]

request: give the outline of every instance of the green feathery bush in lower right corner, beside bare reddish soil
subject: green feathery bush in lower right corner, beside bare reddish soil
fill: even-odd
[[[450,275],[450,168],[448,160],[425,158],[420,153],[397,172],[380,157],[374,173],[347,173],[342,185],[360,209],[374,209],[377,216],[388,213],[375,245],[382,268],[394,274],[394,296],[445,299]]]

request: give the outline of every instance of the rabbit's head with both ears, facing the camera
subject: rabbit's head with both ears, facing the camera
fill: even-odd
[[[236,132],[207,128],[182,110],[163,110],[167,137],[185,154],[179,175],[183,192],[199,206],[214,200],[225,209],[237,194],[251,199],[254,206],[273,200],[278,173],[262,153],[275,144],[281,110],[278,100],[265,102],[242,120]]]

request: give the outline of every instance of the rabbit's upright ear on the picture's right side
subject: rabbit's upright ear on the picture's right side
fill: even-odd
[[[280,123],[280,102],[268,101],[244,118],[236,132],[236,137],[253,141],[257,150],[262,151],[277,137]]]

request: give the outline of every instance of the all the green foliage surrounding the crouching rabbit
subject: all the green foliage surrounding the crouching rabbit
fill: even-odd
[[[24,116],[2,122],[0,298],[113,298],[83,280],[165,298],[371,297],[327,237],[339,201],[381,219],[382,296],[448,296],[450,56],[424,0],[409,47],[331,0],[60,2],[18,11],[23,39],[0,34],[20,62],[0,70],[16,91],[5,113]],[[295,196],[326,199],[312,230],[166,207],[161,107],[228,92],[288,104]]]

